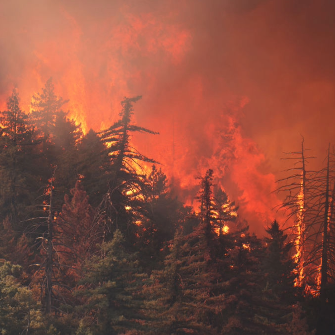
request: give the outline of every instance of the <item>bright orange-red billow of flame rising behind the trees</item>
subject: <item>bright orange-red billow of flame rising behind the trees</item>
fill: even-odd
[[[250,99],[233,94],[209,68],[189,64],[202,37],[180,20],[186,7],[170,10],[164,3],[151,9],[125,2],[114,9],[114,15],[101,14],[97,20],[89,13],[83,23],[80,11],[54,4],[53,20],[45,22],[38,38],[27,28],[20,31],[34,50],[19,75],[6,82],[18,84],[22,109],[29,111],[31,95],[52,76],[57,95],[70,100],[69,117],[86,133],[114,123],[124,96],[142,94],[133,121],[160,135],[136,134],[133,145],[162,163],[179,198],[194,205],[195,177],[210,167],[251,230],[264,234],[279,200],[271,193],[276,178],[267,157],[242,129]],[[10,90],[8,85],[1,91],[2,102]]]

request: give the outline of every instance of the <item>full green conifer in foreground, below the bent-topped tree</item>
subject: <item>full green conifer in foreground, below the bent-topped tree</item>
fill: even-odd
[[[141,328],[136,322],[141,301],[135,293],[143,276],[136,255],[129,254],[123,244],[124,238],[116,230],[113,239],[102,244],[101,256],[86,263],[82,289],[76,292],[83,297],[83,305],[78,307],[84,316],[82,323],[97,335]]]

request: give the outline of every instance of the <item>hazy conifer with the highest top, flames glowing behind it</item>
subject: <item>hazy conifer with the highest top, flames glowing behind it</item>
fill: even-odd
[[[29,120],[34,127],[34,139],[38,143],[35,151],[36,174],[42,185],[48,183],[50,175],[57,166],[54,185],[55,206],[60,210],[66,191],[78,179],[77,144],[82,137],[80,125],[68,119],[68,112],[63,100],[55,93],[55,86],[50,78],[41,93],[32,97]],[[40,186],[42,186],[40,185]]]

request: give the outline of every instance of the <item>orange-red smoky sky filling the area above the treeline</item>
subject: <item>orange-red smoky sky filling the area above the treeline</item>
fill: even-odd
[[[0,110],[53,77],[99,130],[141,94],[136,122],[160,135],[134,144],[189,190],[213,168],[259,233],[282,151],[303,134],[321,160],[334,141],[331,0],[1,1],[0,29]]]

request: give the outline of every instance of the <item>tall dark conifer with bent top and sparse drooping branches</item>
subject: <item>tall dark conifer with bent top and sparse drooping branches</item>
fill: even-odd
[[[141,96],[125,98],[121,102],[121,119],[99,133],[101,141],[107,146],[111,161],[110,169],[106,171],[109,177],[107,193],[102,201],[110,234],[107,239],[115,229],[120,229],[130,245],[134,244],[131,240],[136,233],[132,210],[137,211],[138,206],[141,206],[142,202],[138,200],[141,197],[141,187],[144,186],[143,175],[137,171],[141,169],[141,162],[155,162],[131,146],[130,136],[134,132],[157,134],[131,123],[133,104],[140,98]]]

